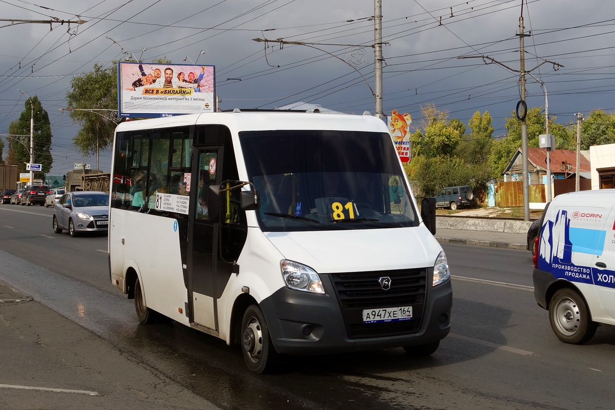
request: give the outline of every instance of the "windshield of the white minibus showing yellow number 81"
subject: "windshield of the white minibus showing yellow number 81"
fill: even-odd
[[[240,132],[263,231],[417,226],[387,133],[323,130]]]

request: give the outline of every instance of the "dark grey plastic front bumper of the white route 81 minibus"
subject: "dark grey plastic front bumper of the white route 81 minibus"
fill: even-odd
[[[321,275],[325,288],[330,284]],[[331,289],[330,285],[328,286]],[[453,304],[451,281],[427,286],[416,329],[405,334],[350,337],[349,326],[335,294],[312,294],[281,288],[260,306],[277,352],[294,355],[352,352],[423,345],[439,341],[450,331]],[[379,325],[376,323],[375,325]]]

